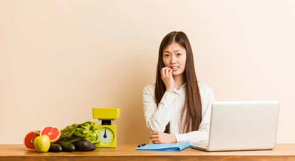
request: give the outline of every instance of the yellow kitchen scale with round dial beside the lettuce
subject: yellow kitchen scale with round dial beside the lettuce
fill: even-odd
[[[112,120],[120,118],[120,112],[120,108],[92,108],[93,119],[101,120],[98,148],[117,147],[117,127],[112,125]]]

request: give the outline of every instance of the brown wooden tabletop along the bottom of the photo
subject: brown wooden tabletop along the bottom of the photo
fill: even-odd
[[[98,148],[91,152],[37,153],[23,145],[0,145],[0,161],[295,161],[295,144],[277,144],[274,150],[204,152],[138,151],[135,144]]]

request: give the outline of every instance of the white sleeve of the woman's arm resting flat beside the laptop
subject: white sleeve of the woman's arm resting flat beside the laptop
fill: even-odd
[[[191,131],[191,132],[183,133],[183,134],[175,134],[177,142],[197,142],[199,144],[208,143],[211,107],[212,107],[212,103],[215,101],[213,90],[210,88],[208,88],[206,100],[207,102],[202,102],[202,103],[206,103],[206,109],[203,109],[205,110],[205,112],[204,112],[199,130]]]

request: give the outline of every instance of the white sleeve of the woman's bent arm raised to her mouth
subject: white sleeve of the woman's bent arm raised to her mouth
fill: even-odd
[[[172,113],[172,103],[175,95],[165,92],[160,103],[157,105],[152,92],[148,87],[143,90],[143,107],[148,129],[164,132],[169,123]]]

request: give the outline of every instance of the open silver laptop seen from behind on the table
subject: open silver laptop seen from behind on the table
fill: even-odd
[[[274,149],[279,108],[279,101],[215,101],[208,144],[190,147],[208,152]]]

